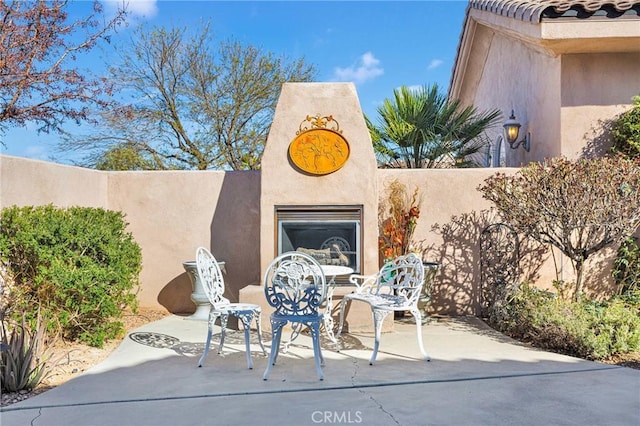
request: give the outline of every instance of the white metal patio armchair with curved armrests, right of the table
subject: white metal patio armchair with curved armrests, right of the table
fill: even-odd
[[[373,365],[380,346],[380,332],[385,317],[394,311],[409,311],[416,320],[418,346],[426,361],[431,358],[422,344],[422,314],[418,309],[418,300],[424,285],[424,266],[415,254],[400,256],[385,263],[375,275],[351,275],[350,281],[356,290],[344,296],[340,306],[340,325],[337,337],[342,333],[344,311],[353,300],[368,303],[373,314],[375,343],[369,364]]]

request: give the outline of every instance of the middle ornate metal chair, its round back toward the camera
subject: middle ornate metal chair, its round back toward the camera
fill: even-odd
[[[324,273],[318,262],[300,252],[287,252],[276,257],[264,275],[264,294],[275,310],[271,314],[271,353],[263,379],[269,378],[278,359],[282,328],[306,326],[311,332],[316,371],[324,379],[324,358],[320,348],[320,325],[324,314],[320,306],[327,295]]]

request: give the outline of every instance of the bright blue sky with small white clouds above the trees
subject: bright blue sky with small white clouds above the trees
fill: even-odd
[[[104,1],[106,11],[114,7]],[[464,0],[422,1],[168,1],[129,0],[130,25],[118,31],[110,47],[79,58],[94,72],[113,61],[113,48],[137,25],[196,27],[211,22],[220,39],[233,37],[289,58],[315,64],[317,81],[356,84],[365,114],[400,86],[437,83],[446,92],[464,21]],[[82,14],[88,1],[72,4]],[[69,124],[67,131],[84,132]],[[12,129],[2,138],[3,154],[51,160],[57,135]],[[58,158],[58,161],[65,162]]]

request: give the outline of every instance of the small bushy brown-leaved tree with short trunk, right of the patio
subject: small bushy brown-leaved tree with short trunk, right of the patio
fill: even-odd
[[[640,159],[554,158],[516,175],[496,173],[478,189],[518,232],[571,260],[576,297],[585,261],[640,225]]]

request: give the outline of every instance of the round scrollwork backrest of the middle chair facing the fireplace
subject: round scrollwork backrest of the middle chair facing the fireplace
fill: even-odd
[[[301,252],[276,257],[264,275],[264,294],[276,315],[317,315],[327,294],[320,264]]]

